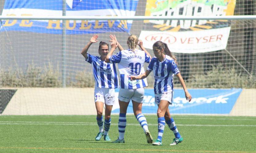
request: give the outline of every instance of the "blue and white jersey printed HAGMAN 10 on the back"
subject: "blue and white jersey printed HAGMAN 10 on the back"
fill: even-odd
[[[134,54],[135,52],[135,54]],[[138,76],[145,73],[143,64],[150,62],[150,57],[142,50],[122,50],[110,56],[111,63],[118,63],[121,78],[121,88],[137,89],[148,86],[146,78],[143,80],[131,80],[130,76]]]

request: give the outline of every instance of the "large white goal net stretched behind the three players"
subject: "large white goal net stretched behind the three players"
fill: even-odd
[[[256,112],[256,20],[246,18],[246,15],[256,15],[253,0],[108,1],[108,4],[92,0],[66,0],[66,3],[51,0],[33,2],[33,5],[30,1],[24,2],[0,2],[1,17],[10,17],[1,18],[0,114],[95,114],[92,67],[80,54],[94,34],[99,35],[99,41],[107,43],[109,35],[114,34],[123,48],[128,48],[128,36],[135,34],[152,57],[153,43],[161,40],[177,57],[189,91],[195,90],[200,95],[206,91],[197,89],[212,89],[211,92],[239,89],[240,95],[232,99],[233,105],[229,107],[236,107],[237,112],[242,113],[232,114],[233,110],[226,113],[223,105],[223,111],[221,108],[217,114],[254,115]],[[62,15],[71,18],[47,20],[47,17]],[[231,15],[243,17],[225,19]],[[11,18],[15,16],[31,19]],[[35,16],[38,18],[32,19]],[[102,19],[102,16],[110,18]],[[124,18],[115,19],[119,16]],[[136,16],[144,16],[145,20]],[[207,16],[216,18],[207,19]],[[98,44],[92,44],[88,53],[98,56]],[[145,63],[144,68],[147,66]],[[147,81],[148,89],[154,88],[153,74]],[[174,77],[174,92],[179,88],[182,86]],[[154,99],[154,93],[150,94]],[[178,97],[184,98],[184,94]],[[218,103],[218,96],[209,100],[206,94],[206,100],[201,101],[199,97],[191,109],[197,103]],[[154,102],[152,99],[149,103]],[[236,103],[239,100],[242,102]],[[183,103],[177,99],[174,102]],[[225,102],[225,97],[219,100],[219,103]],[[175,109],[182,108],[177,105]],[[211,107],[207,109],[211,112]],[[181,112],[186,113],[190,111]]]

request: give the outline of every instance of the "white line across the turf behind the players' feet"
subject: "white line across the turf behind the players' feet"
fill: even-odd
[[[94,122],[36,122],[36,121],[0,121],[0,125],[97,125]],[[111,125],[118,125],[111,123]],[[128,123],[126,125],[140,126],[138,123]],[[148,124],[149,126],[157,126],[157,124]],[[177,124],[178,126],[251,126],[256,125],[204,125],[204,124]]]

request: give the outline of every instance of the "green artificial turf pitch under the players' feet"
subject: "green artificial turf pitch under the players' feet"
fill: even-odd
[[[124,144],[95,141],[92,116],[0,116],[0,152],[256,152],[256,118],[174,115],[184,141],[170,146],[174,134],[165,126],[162,146],[146,143],[134,115],[127,115]],[[145,115],[157,138],[157,116]],[[118,115],[111,116],[109,136],[118,136]]]

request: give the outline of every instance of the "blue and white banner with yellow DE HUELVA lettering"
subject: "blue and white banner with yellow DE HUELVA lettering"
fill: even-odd
[[[66,16],[134,16],[138,0],[66,0]],[[6,0],[2,15],[62,16],[62,0]],[[130,32],[131,20],[70,20],[67,34]],[[6,20],[3,30],[62,34],[61,20]]]

